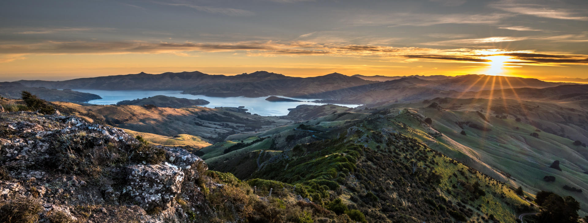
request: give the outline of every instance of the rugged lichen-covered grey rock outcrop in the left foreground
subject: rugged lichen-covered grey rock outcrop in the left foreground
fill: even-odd
[[[42,221],[56,212],[83,222],[185,222],[186,211],[213,213],[196,183],[216,185],[203,181],[208,168],[185,149],[152,147],[122,129],[32,112],[2,113],[0,131],[0,206],[31,199],[41,205]],[[149,154],[158,151],[161,158]],[[180,205],[180,197],[199,205]],[[84,205],[91,215],[79,211]]]

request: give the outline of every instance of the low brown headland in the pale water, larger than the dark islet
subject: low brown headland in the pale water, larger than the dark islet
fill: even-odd
[[[205,99],[176,98],[173,96],[156,95],[149,98],[119,101],[117,105],[155,105],[158,107],[186,108],[189,106],[206,105],[211,102]]]

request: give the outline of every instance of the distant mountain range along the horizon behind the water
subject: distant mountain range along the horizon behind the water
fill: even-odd
[[[28,87],[103,90],[181,90],[206,96],[270,96],[330,99],[340,102],[376,104],[412,101],[437,96],[460,97],[463,92],[510,88],[551,88],[562,83],[534,78],[490,75],[460,76],[346,76],[333,73],[307,78],[267,71],[233,76],[202,72],[166,72],[78,78],[68,81],[16,81]],[[482,94],[482,93],[481,93]],[[486,94],[486,93],[483,93]],[[467,95],[470,95],[468,93]]]

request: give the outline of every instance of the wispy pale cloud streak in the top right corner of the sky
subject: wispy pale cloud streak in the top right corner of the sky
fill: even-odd
[[[503,0],[490,4],[489,6],[506,12],[532,15],[542,18],[588,21],[588,16],[585,16],[586,8],[580,10],[570,8],[553,8],[547,5],[536,4],[536,1],[523,1],[530,3],[519,2],[521,1]],[[563,4],[558,5],[564,6]]]

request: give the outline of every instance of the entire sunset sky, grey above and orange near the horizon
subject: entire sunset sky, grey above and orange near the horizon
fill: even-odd
[[[588,1],[0,1],[0,81],[261,70],[588,78]]]

